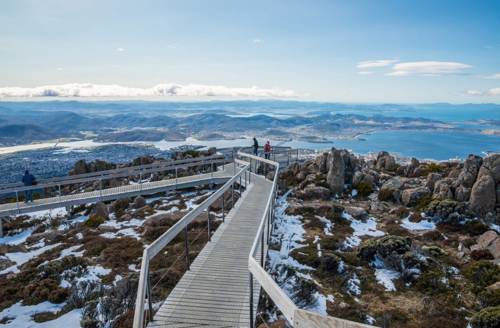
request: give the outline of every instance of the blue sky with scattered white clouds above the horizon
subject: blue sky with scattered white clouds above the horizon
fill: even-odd
[[[2,100],[500,103],[497,0],[0,5]]]

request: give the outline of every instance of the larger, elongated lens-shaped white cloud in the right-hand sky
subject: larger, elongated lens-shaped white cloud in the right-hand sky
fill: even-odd
[[[462,68],[469,68],[471,65],[452,61],[413,61],[401,62],[392,66],[393,72],[385,75],[459,75],[464,74]]]

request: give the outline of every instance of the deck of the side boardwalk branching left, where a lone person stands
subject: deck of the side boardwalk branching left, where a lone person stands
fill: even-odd
[[[0,205],[0,217],[30,213],[38,210],[53,209],[71,205],[87,204],[96,201],[113,200],[121,197],[133,197],[142,194],[151,194],[156,192],[164,192],[168,190],[186,188],[194,185],[223,183],[234,175],[234,170],[230,166],[225,166],[226,169],[179,177],[177,179],[167,179],[154,182],[142,182],[141,184],[128,184],[125,186],[102,189],[102,191],[90,191],[70,194],[61,197],[50,197],[37,199],[33,202],[25,203],[7,203]]]

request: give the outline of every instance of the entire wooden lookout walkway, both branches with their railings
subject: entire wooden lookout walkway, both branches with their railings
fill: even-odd
[[[252,148],[251,148],[252,150]],[[178,220],[143,251],[136,297],[134,328],[147,327],[254,327],[258,300],[262,291],[276,304],[291,326],[296,328],[333,327],[365,328],[365,324],[324,316],[298,308],[265,270],[267,244],[272,231],[272,220],[277,193],[278,170],[298,160],[291,150],[274,150],[270,158],[250,154],[250,148],[236,153],[227,151],[213,156],[180,161],[118,168],[101,172],[39,180],[36,188],[56,188],[55,197],[1,204],[0,217],[32,211],[66,207],[165,192],[194,185],[223,183],[207,199]],[[228,156],[230,156],[228,158]],[[271,160],[272,158],[272,160]],[[178,170],[202,165],[206,173],[179,176]],[[269,170],[273,169],[272,180]],[[171,172],[171,178],[159,181],[143,179],[153,172]],[[260,173],[260,174],[257,174]],[[113,188],[103,188],[103,181],[138,175],[139,182]],[[263,175],[267,175],[265,178]],[[61,194],[61,186],[82,182],[98,182],[99,190]],[[224,192],[234,195],[239,186],[240,198],[231,201],[232,208],[224,213]],[[0,194],[23,192],[27,188],[17,183],[0,185]],[[244,189],[244,192],[243,192]],[[222,201],[222,223],[191,262],[187,224],[204,211],[207,230],[210,231],[210,205]],[[69,218],[69,217],[68,217]],[[1,232],[1,231],[0,231]],[[153,302],[149,263],[179,233],[184,234],[187,270],[166,299]],[[166,273],[165,273],[166,274]],[[154,286],[153,286],[154,287]]]

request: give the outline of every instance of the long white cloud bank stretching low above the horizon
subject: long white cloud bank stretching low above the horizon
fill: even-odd
[[[5,97],[119,97],[119,96],[249,96],[249,97],[298,97],[293,90],[277,87],[226,87],[222,85],[201,85],[175,83],[157,84],[150,88],[128,87],[116,84],[71,83],[37,87],[0,87],[0,96]]]

